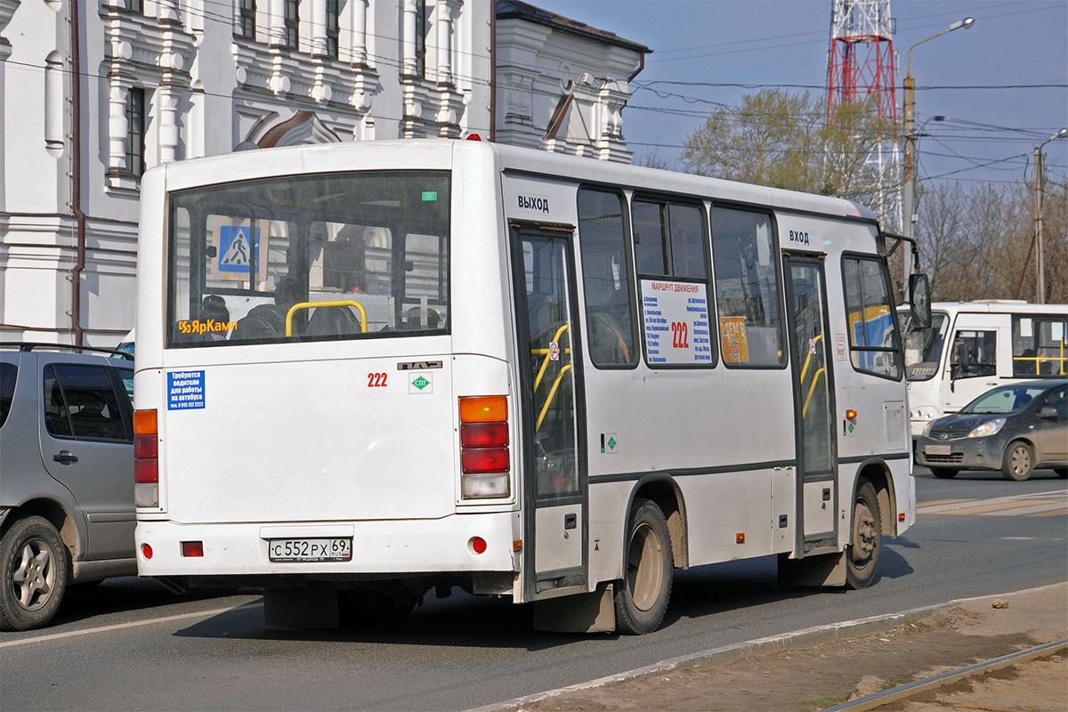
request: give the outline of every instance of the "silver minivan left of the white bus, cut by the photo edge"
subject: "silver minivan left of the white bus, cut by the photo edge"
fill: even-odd
[[[134,364],[0,344],[0,630],[47,624],[73,583],[136,575]]]

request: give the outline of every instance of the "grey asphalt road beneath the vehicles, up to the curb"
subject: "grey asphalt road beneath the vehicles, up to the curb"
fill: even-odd
[[[925,472],[925,471],[921,471]],[[920,517],[862,591],[775,587],[774,559],[677,572],[661,630],[537,633],[528,606],[427,596],[392,629],[287,631],[260,598],[176,598],[121,579],[54,626],[0,634],[3,710],[456,710],[732,643],[1068,580],[1068,481],[917,475]],[[974,501],[974,502],[971,502]],[[934,504],[931,504],[934,503]]]

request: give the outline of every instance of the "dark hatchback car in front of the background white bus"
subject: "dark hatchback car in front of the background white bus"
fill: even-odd
[[[1023,381],[987,391],[953,415],[931,421],[916,462],[936,477],[1001,470],[1024,480],[1039,468],[1068,477],[1068,382]]]

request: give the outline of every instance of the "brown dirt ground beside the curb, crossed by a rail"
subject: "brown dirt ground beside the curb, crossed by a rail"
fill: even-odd
[[[1007,607],[994,607],[995,600]],[[513,707],[524,712],[813,712],[1068,637],[1068,583],[973,599],[883,633],[726,664],[694,663]],[[1068,655],[1036,659],[892,702],[883,712],[1068,711]]]

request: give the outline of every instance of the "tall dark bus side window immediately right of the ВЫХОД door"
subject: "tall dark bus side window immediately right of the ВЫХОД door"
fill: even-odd
[[[633,283],[623,195],[579,190],[582,286],[590,360],[595,366],[638,363]]]

